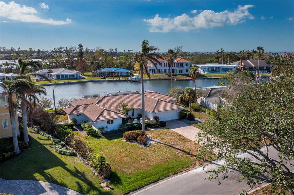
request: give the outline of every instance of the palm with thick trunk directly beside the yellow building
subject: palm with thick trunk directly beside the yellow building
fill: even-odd
[[[12,128],[12,138],[13,138],[13,150],[16,154],[19,153],[18,140],[17,140],[17,131],[16,131],[16,101],[13,101],[13,96],[19,94],[21,100],[26,101],[24,91],[31,88],[31,84],[27,79],[16,79],[13,81],[4,80],[0,83],[0,86],[3,87],[3,94],[8,95],[8,109],[10,115],[10,122]]]

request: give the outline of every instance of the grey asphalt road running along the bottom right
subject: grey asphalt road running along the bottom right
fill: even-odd
[[[252,161],[255,160],[251,155],[245,153],[241,154],[241,157],[248,157]],[[277,159],[277,152],[269,147],[269,156]],[[221,165],[223,161],[215,162],[214,164],[209,164],[203,170],[202,167],[193,169],[181,175],[177,175],[170,179],[163,180],[158,183],[145,186],[138,191],[130,193],[132,195],[197,195],[197,194],[207,194],[207,195],[227,195],[227,194],[239,194],[242,189],[248,190],[250,187],[245,181],[238,182],[240,177],[240,172],[228,172],[228,178],[225,180],[220,180],[221,184],[218,185],[218,180],[213,179],[211,181],[204,180],[207,178],[209,173],[206,173],[209,169],[215,169],[217,165]],[[292,171],[293,167],[289,167]],[[221,176],[220,176],[221,177]]]

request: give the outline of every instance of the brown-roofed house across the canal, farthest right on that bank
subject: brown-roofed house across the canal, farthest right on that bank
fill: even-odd
[[[244,60],[242,61],[242,65],[240,65],[240,61],[233,62],[231,65],[237,65],[240,70],[247,70],[251,72],[256,72],[258,67],[258,60]],[[261,73],[268,73],[272,65],[267,64],[263,60],[259,60],[259,71]]]

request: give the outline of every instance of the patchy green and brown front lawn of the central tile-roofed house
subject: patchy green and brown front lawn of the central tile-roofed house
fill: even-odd
[[[105,134],[102,138],[79,136],[110,163],[111,183],[123,193],[205,162],[196,158],[200,150],[197,143],[172,130],[158,129],[146,133],[165,144],[139,146],[124,142],[122,133]]]

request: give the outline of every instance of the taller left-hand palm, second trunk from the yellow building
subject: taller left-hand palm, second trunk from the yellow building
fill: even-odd
[[[44,76],[43,74],[38,74],[38,73],[27,73],[25,74],[25,71],[28,69],[28,67],[31,66],[31,68],[39,68],[41,67],[41,65],[38,62],[34,62],[34,61],[23,61],[21,60],[21,58],[18,59],[18,65],[17,65],[17,69],[19,71],[19,76],[17,76],[15,79],[30,79],[30,75],[32,76],[39,76],[43,79],[46,79],[47,81],[51,82],[51,80],[49,80],[46,76]],[[23,91],[23,97],[21,97],[21,115],[22,115],[22,123],[23,123],[23,127],[24,127],[24,142],[29,142],[29,135],[28,135],[28,120],[27,120],[27,104],[26,104],[26,98],[25,95],[31,95],[32,93],[34,93],[34,91],[32,91],[34,83],[33,82],[29,82],[31,84],[31,88],[29,89],[29,91]],[[27,90],[27,89],[26,89]],[[31,104],[29,104],[29,106],[31,106]]]

